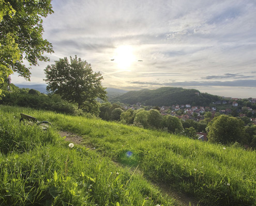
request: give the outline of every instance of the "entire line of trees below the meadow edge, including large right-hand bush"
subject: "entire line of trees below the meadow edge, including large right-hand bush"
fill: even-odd
[[[169,114],[163,116],[157,109],[125,110],[121,105],[111,105],[110,102],[101,104],[99,117],[107,121],[119,121],[122,124],[185,135],[192,139],[198,138],[197,132],[207,132],[210,142],[256,148],[256,125],[248,122],[248,117],[218,115],[210,118],[207,116],[212,116],[212,113],[206,112],[204,121],[182,121]]]

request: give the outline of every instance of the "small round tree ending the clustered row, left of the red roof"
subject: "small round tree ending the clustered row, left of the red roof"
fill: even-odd
[[[183,131],[182,122],[176,116],[171,116],[169,114],[163,116],[162,125],[171,133],[180,133]]]

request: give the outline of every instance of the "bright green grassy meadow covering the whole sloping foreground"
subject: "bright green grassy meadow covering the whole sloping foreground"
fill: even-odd
[[[53,126],[20,123],[21,112]],[[154,185],[203,205],[256,205],[254,150],[92,116],[9,106],[0,116],[0,205],[179,204]],[[59,130],[83,144],[69,147]]]

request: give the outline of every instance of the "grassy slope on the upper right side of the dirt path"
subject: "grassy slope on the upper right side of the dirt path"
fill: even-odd
[[[20,111],[16,108],[13,115]],[[206,204],[256,205],[255,151],[224,149],[221,145],[100,119],[27,109],[24,112],[41,121],[48,119],[59,129],[84,135],[86,142],[104,156],[139,165],[148,178],[170,184]]]

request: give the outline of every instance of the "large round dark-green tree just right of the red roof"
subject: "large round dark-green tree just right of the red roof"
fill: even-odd
[[[232,116],[220,115],[208,125],[208,138],[212,142],[244,143],[245,135],[244,122]]]

